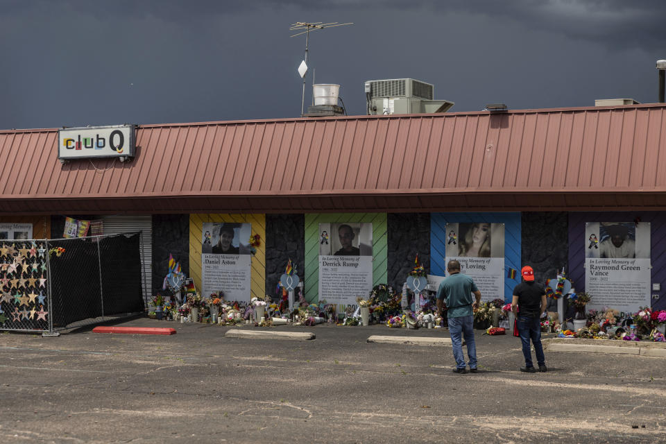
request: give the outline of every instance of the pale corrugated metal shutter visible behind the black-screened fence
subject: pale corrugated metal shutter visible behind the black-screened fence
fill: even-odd
[[[102,216],[104,234],[142,232],[141,264],[144,302],[148,307],[153,281],[153,216]]]

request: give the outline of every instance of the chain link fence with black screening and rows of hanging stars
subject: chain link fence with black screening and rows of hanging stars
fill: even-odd
[[[140,239],[0,241],[0,330],[53,334],[144,311]]]

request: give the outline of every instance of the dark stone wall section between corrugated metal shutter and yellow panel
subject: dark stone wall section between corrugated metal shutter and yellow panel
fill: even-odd
[[[169,253],[189,277],[189,214],[153,214],[153,294],[162,291]]]

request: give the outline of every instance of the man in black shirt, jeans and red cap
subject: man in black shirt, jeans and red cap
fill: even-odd
[[[511,311],[515,315],[520,341],[522,342],[522,354],[525,357],[525,366],[520,371],[534,373],[536,369],[532,364],[532,354],[529,348],[529,340],[532,340],[534,352],[536,352],[536,362],[539,365],[539,371],[548,371],[546,367],[546,358],[543,355],[543,346],[541,345],[541,314],[546,310],[546,291],[543,285],[534,282],[534,271],[531,266],[526,265],[520,271],[522,280],[520,284],[513,289],[513,300],[511,301]]]

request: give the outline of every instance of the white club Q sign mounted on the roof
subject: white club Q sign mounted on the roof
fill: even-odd
[[[135,126],[85,126],[58,130],[58,159],[134,157]]]

